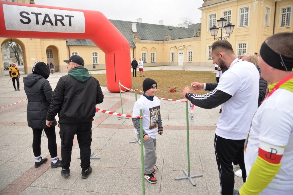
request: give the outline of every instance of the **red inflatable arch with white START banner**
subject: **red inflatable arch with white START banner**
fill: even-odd
[[[104,53],[107,88],[132,87],[130,46],[100,12],[0,1],[0,37],[91,39]],[[110,40],[110,41],[109,41]]]

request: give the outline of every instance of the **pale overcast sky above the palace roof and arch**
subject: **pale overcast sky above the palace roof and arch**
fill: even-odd
[[[175,3],[174,3],[175,2]],[[142,18],[143,23],[177,26],[180,18],[189,18],[199,23],[202,0],[35,0],[36,5],[66,7],[102,12],[108,19],[136,22]]]

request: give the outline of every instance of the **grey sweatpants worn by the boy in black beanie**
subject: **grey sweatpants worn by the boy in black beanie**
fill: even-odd
[[[143,140],[144,143],[144,173],[151,174],[153,168],[157,161],[156,155],[156,145],[157,139],[149,138],[148,140]]]

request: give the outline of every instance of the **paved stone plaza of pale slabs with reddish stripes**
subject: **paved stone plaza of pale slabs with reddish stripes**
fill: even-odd
[[[147,70],[182,71],[182,67],[150,67]],[[213,67],[186,67],[185,70],[214,72]],[[6,71],[5,71],[6,72]],[[91,71],[92,74],[105,73]],[[48,80],[54,90],[59,78],[67,73],[50,74]],[[0,107],[26,99],[21,73],[20,89],[14,91],[9,73],[0,77]],[[143,77],[133,78],[143,82]],[[126,86],[127,87],[127,86]],[[122,113],[120,94],[111,93],[102,87],[104,101],[96,108]],[[181,93],[181,91],[179,91]],[[138,98],[140,93],[138,93]],[[164,98],[164,97],[163,97]],[[159,171],[154,175],[158,182],[151,184],[145,180],[145,194],[220,194],[219,172],[214,154],[214,130],[220,117],[220,107],[202,109],[194,107],[194,122],[189,124],[190,174],[203,174],[193,178],[196,186],[189,180],[175,180],[185,176],[188,170],[187,131],[185,102],[161,101],[161,118],[164,135],[157,140],[157,163]],[[135,94],[122,94],[123,113],[132,114]],[[32,150],[33,132],[27,124],[27,101],[0,109],[0,194],[142,194],[141,153],[132,120],[117,116],[96,113],[92,128],[92,152],[99,160],[91,160],[92,174],[81,179],[79,146],[75,136],[70,177],[60,175],[61,168],[50,168],[51,158],[47,148],[47,138],[42,137],[41,155],[48,158],[39,168],[34,167]],[[56,117],[58,121],[58,117]],[[56,126],[58,157],[61,158],[59,128]],[[61,159],[62,160],[62,159]],[[234,168],[234,172],[238,168]],[[242,178],[235,176],[235,187],[243,184]]]

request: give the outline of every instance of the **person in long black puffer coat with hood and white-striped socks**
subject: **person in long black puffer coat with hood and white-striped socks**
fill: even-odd
[[[53,120],[50,127],[46,125],[46,116],[51,103],[52,88],[47,78],[50,68],[44,62],[35,62],[33,74],[23,78],[24,91],[28,97],[26,115],[28,126],[33,128],[33,153],[35,155],[35,167],[47,162],[47,158],[41,157],[41,137],[44,129],[48,138],[48,149],[52,158],[51,168],[61,167],[61,161],[57,156],[57,144],[55,126]]]

